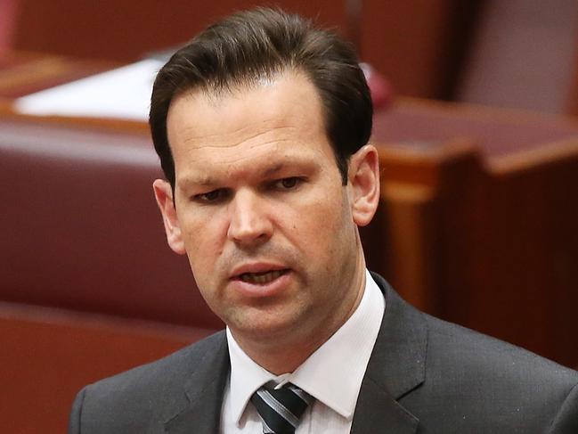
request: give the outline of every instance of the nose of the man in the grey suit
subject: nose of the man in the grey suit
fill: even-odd
[[[258,194],[239,191],[230,202],[228,237],[243,247],[255,247],[273,235],[273,222],[267,215],[265,201]]]

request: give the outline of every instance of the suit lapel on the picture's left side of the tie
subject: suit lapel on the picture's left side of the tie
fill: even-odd
[[[224,388],[230,370],[226,338],[222,333],[215,351],[196,367],[184,385],[187,404],[165,423],[167,434],[215,434],[219,432]]]

